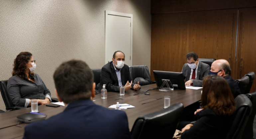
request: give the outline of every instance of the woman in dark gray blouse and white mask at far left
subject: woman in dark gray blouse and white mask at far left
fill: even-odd
[[[36,61],[30,52],[21,52],[13,64],[12,77],[7,82],[7,92],[15,106],[28,107],[31,99],[38,99],[38,104],[49,104],[51,93],[43,80],[33,71]]]

